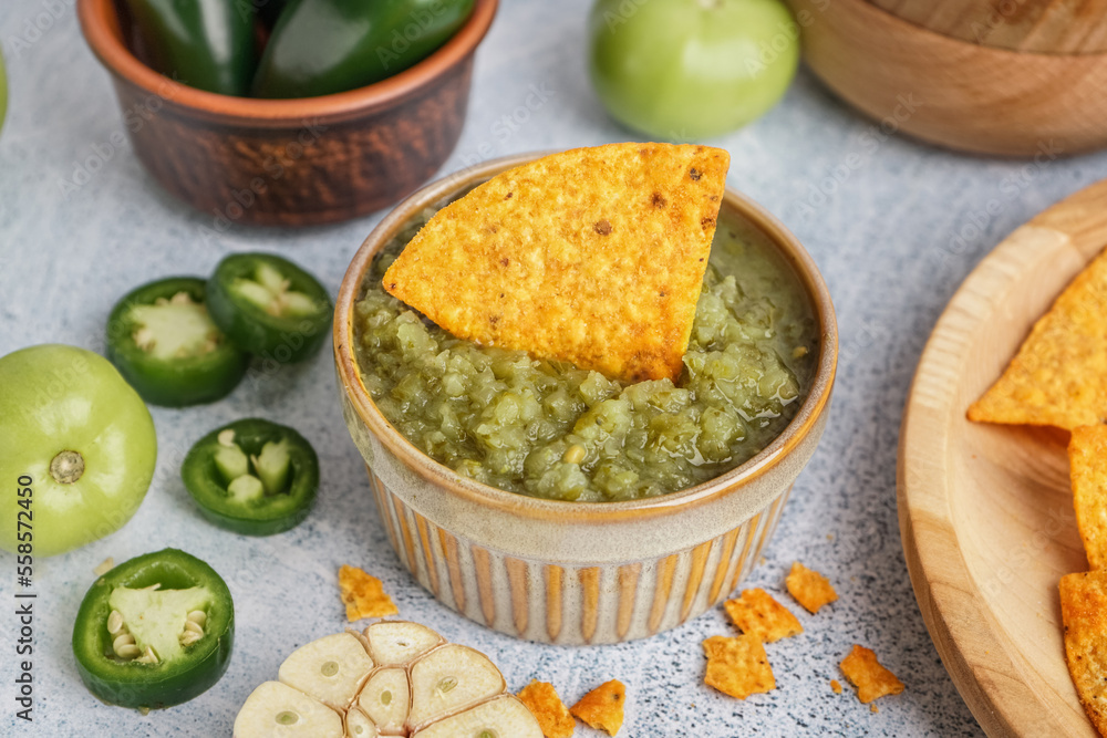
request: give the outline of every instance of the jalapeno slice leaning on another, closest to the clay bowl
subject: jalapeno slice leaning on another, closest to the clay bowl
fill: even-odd
[[[271,253],[225,258],[207,291],[211,318],[235,343],[281,364],[319,351],[334,311],[319,280]]]

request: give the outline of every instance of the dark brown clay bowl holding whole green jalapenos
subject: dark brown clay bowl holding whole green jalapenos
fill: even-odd
[[[395,202],[446,160],[462,132],[473,54],[497,0],[476,0],[454,38],[418,64],[358,90],[299,100],[231,97],[143,64],[113,0],[77,0],[81,28],[112,73],[138,159],[169,193],[231,222],[337,222]]]

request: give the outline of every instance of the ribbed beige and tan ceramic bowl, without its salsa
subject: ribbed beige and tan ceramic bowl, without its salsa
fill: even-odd
[[[745,221],[779,249],[807,290],[819,326],[818,368],[784,432],[742,466],[650,499],[547,500],[462,477],[404,438],[373,403],[355,358],[355,303],[374,254],[414,216],[535,157],[495,159],[424,187],[362,243],[334,310],[343,415],[396,555],[443,604],[529,641],[643,638],[717,604],[756,565],[829,414],[838,355],[834,305],[795,236],[727,189],[720,222]]]

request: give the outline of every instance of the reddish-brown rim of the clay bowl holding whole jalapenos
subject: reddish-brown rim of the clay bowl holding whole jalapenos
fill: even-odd
[[[77,0],[77,15],[85,41],[100,62],[117,79],[196,113],[225,121],[255,124],[302,122],[304,118],[341,119],[387,107],[425,87],[470,55],[496,15],[499,0],[475,0],[465,24],[430,56],[373,84],[315,97],[270,100],[236,97],[197,90],[174,81],[142,63],[123,42],[114,0]]]

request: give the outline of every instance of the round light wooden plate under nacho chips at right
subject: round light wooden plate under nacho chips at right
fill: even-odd
[[[1067,432],[970,423],[1031,325],[1107,245],[1107,180],[1013,232],[953,297],[900,434],[908,570],[945,668],[990,736],[1095,736],[1068,676],[1057,583],[1087,561]],[[1104,381],[1094,377],[1093,381]]]

